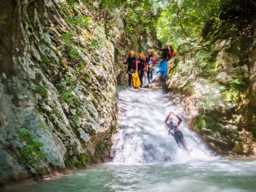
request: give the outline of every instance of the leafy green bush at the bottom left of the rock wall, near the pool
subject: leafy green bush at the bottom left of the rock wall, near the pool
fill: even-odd
[[[47,154],[41,149],[43,143],[39,142],[38,139],[32,135],[31,131],[26,128],[21,128],[17,133],[22,143],[20,154],[18,154],[22,162],[26,163],[28,166],[33,166],[33,164],[47,157]]]

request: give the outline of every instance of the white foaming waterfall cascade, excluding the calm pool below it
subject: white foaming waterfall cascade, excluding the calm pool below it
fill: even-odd
[[[118,93],[119,132],[111,148],[113,163],[185,163],[193,159],[210,160],[211,155],[196,135],[187,129],[182,121],[179,129],[183,132],[188,155],[180,149],[164,128],[164,119],[170,111],[182,118],[182,111],[175,109],[161,91],[122,90]],[[177,118],[174,117],[174,121]]]

